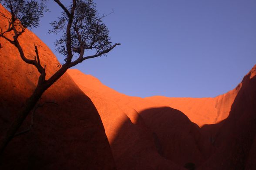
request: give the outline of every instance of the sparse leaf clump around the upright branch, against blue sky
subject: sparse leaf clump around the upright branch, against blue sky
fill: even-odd
[[[71,13],[72,4],[67,8]],[[111,48],[111,41],[108,35],[109,31],[107,26],[102,22],[102,18],[99,16],[96,10],[93,0],[77,0],[76,8],[74,11],[74,18],[71,26],[71,47],[74,52],[79,53],[81,46],[85,50],[94,51],[95,54],[99,54],[105,49]],[[53,21],[49,30],[49,33],[61,33],[60,39],[55,41],[57,51],[67,56],[67,23],[69,16],[65,13],[61,13],[61,17],[58,20]]]

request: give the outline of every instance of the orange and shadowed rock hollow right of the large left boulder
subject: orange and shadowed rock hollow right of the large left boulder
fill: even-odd
[[[255,72],[215,98],[138,98],[68,70],[96,106],[117,168],[127,170],[255,169]]]

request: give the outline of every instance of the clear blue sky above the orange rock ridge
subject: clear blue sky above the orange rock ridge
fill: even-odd
[[[66,4],[68,0],[63,1]],[[238,85],[256,64],[256,0],[94,0],[111,41],[107,57],[74,67],[130,96],[215,97]],[[49,46],[47,34],[61,9],[32,31]]]

